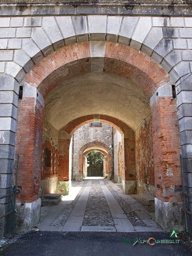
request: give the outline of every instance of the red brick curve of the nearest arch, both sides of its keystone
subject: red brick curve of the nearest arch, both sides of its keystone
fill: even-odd
[[[62,81],[88,72],[91,72],[90,42],[82,42],[52,52],[28,72],[24,81],[38,88],[46,97]],[[111,42],[105,42],[103,72],[132,80],[148,97],[171,80],[168,73],[149,56]]]

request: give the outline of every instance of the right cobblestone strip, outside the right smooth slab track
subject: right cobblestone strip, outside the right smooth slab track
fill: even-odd
[[[117,202],[120,204],[121,208],[123,208],[125,214],[127,215],[128,219],[130,220],[133,226],[146,226],[144,222],[137,216],[137,214],[132,210],[132,208],[128,205],[127,202],[123,198],[121,198],[115,190],[112,188],[111,185],[108,184],[107,180],[104,180],[104,184],[107,186],[109,191],[115,197]]]

